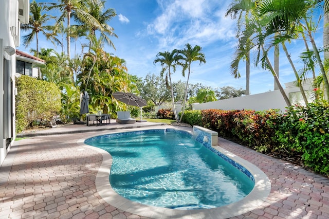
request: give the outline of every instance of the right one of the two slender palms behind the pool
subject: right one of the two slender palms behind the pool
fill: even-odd
[[[188,87],[189,87],[189,78],[190,78],[190,74],[191,74],[191,64],[194,61],[199,61],[199,64],[206,63],[205,54],[201,50],[202,50],[202,47],[196,45],[192,48],[192,46],[189,43],[187,43],[185,45],[185,48],[183,50],[179,51],[179,53],[182,56],[181,60],[183,62],[185,62],[183,69],[182,69],[182,75],[185,76],[185,71],[188,70],[183,108],[182,108],[179,122],[181,122],[181,118],[183,117],[184,111],[185,111],[185,104],[186,104],[187,92],[188,92]]]

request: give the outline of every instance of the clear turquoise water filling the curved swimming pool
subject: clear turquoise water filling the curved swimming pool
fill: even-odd
[[[112,188],[141,204],[215,208],[237,202],[254,187],[252,176],[232,166],[225,155],[226,160],[195,141],[188,132],[117,133],[89,138],[85,143],[112,155]]]

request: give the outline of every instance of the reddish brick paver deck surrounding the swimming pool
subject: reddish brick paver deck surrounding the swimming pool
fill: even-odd
[[[25,134],[30,137],[15,141],[0,167],[0,218],[147,218],[101,198],[95,178],[103,157],[81,148],[78,140],[149,125],[156,124],[67,125]],[[271,181],[265,202],[234,218],[329,218],[327,177],[223,138],[218,145],[259,167]]]

